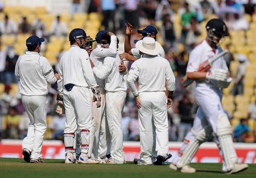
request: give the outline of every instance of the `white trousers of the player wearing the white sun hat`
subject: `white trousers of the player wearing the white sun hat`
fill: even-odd
[[[140,158],[152,164],[154,148],[154,129],[156,132],[157,155],[168,152],[167,99],[164,92],[143,92],[139,94],[141,108],[139,113]]]

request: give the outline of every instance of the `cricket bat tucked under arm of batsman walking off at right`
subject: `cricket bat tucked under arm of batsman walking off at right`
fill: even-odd
[[[219,59],[220,57],[224,56],[225,54],[227,54],[229,51],[227,49],[225,49],[224,51],[222,51],[221,53],[219,53],[215,58],[213,59],[208,59],[206,61],[204,61],[203,63],[200,64],[199,66],[199,72],[206,72],[208,71],[211,66],[212,63],[214,63],[214,61],[216,61],[217,59]],[[190,85],[191,83],[193,83],[194,80],[192,79],[188,79],[187,75],[185,75],[182,79],[181,79],[181,84],[182,86],[185,88],[188,85]]]

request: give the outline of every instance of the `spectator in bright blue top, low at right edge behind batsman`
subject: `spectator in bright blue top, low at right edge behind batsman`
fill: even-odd
[[[254,137],[248,125],[248,119],[240,119],[240,124],[234,128],[234,139],[237,142],[253,142]]]

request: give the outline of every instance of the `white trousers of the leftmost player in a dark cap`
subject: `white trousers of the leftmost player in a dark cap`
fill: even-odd
[[[28,134],[22,142],[22,148],[31,151],[31,158],[39,159],[47,128],[47,97],[22,95],[22,103],[30,119]]]

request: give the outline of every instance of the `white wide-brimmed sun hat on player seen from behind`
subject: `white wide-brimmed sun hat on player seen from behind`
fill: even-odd
[[[139,40],[136,42],[135,47],[142,53],[153,56],[159,54],[162,49],[161,44],[151,37],[144,37],[142,40]]]

